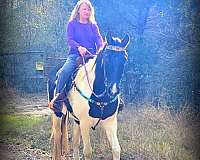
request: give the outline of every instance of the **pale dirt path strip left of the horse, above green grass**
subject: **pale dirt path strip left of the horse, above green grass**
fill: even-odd
[[[48,115],[51,112],[47,103],[47,94],[45,93],[19,94],[9,89],[1,89],[0,92],[1,114]]]

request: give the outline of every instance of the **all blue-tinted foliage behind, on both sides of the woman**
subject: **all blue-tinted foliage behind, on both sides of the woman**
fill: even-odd
[[[76,2],[9,0],[0,10],[0,52],[41,50],[65,57],[65,27]],[[122,81],[126,103],[193,103],[192,91],[200,90],[198,0],[91,2],[103,36],[112,31],[131,37]]]

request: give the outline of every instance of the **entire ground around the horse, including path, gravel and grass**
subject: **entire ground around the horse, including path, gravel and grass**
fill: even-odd
[[[183,106],[178,113],[162,107],[130,105],[118,114],[121,160],[200,159],[200,113],[190,106]],[[0,159],[50,160],[50,113],[46,94],[18,95],[1,90]],[[112,159],[101,127],[91,131],[91,142],[93,160]]]

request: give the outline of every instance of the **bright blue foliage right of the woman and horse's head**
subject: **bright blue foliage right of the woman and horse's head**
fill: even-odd
[[[174,108],[193,103],[192,91],[200,89],[196,63],[200,45],[198,2],[94,3],[104,31],[131,36],[129,62],[122,83],[125,101],[153,104],[159,99],[160,103]]]

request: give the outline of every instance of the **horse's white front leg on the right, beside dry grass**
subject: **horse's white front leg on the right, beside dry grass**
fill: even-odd
[[[113,160],[120,160],[121,148],[117,138],[117,117],[115,116],[112,119],[106,120],[103,123],[103,127],[112,147]]]

